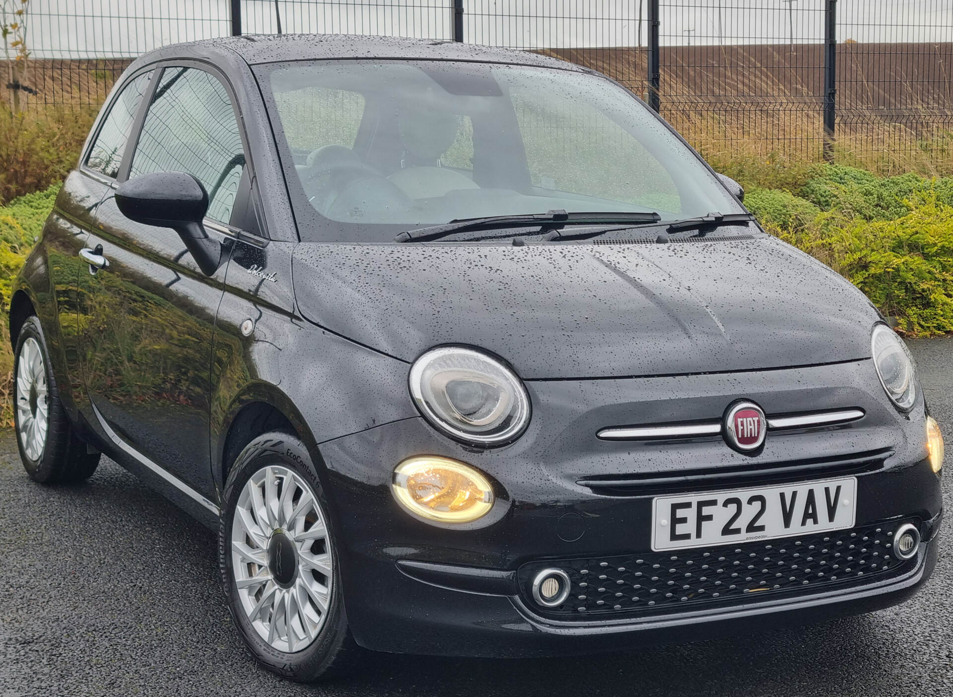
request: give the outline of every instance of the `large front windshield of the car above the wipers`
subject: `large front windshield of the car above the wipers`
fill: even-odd
[[[613,82],[449,61],[257,66],[302,237],[386,241],[465,218],[743,209]]]

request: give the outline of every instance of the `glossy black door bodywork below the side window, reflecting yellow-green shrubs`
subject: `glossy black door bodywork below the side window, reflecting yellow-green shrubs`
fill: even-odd
[[[132,222],[112,192],[87,242],[97,245],[110,265],[79,283],[89,398],[132,447],[208,496],[209,357],[225,269],[207,277],[174,230]]]

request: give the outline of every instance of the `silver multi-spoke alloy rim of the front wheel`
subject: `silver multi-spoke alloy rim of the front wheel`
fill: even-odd
[[[311,487],[287,467],[255,472],[238,497],[232,523],[235,589],[255,631],[285,653],[314,642],[331,602],[331,540]],[[294,545],[294,578],[270,566],[275,536]]]

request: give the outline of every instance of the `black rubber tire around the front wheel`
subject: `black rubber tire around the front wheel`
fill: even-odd
[[[327,616],[314,642],[294,653],[285,653],[274,648],[258,634],[234,584],[232,527],[235,508],[245,484],[266,465],[281,465],[293,470],[311,487],[323,510],[332,541],[333,582]],[[223,499],[218,525],[218,564],[234,625],[238,627],[255,660],[268,670],[300,683],[311,683],[319,678],[327,680],[350,673],[359,661],[362,649],[355,644],[348,629],[334,529],[327,516],[327,497],[304,443],[281,431],[266,433],[250,442],[234,461],[225,483]],[[298,573],[301,573],[300,569]]]

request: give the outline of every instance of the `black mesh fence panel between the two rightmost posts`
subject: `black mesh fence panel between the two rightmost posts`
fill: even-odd
[[[705,150],[819,157],[824,0],[662,0],[661,113]]]

